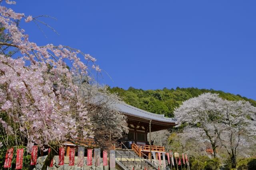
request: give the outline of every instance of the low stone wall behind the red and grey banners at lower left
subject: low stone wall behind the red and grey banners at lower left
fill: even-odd
[[[42,166],[44,164],[44,161],[46,159],[46,156],[40,156],[37,159],[36,166],[31,168],[32,170],[41,170]],[[74,166],[69,166],[69,157],[64,156],[64,166],[63,165],[58,165],[59,162],[59,156],[54,156],[53,160],[53,167],[48,168],[48,170],[108,170],[108,166],[103,166],[103,161],[102,158],[100,158],[100,166],[95,167],[95,161],[92,159],[92,166],[87,166],[87,157],[84,157],[84,167],[77,167],[77,162],[78,162],[78,157],[75,156],[75,165]]]

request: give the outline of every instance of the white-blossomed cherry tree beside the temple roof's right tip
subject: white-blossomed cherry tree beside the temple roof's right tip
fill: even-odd
[[[222,99],[217,94],[206,93],[183,102],[174,111],[179,125],[186,124],[187,127],[191,127],[186,128],[186,132],[189,132],[191,137],[210,141],[214,157],[216,157],[216,148],[219,145],[214,123],[218,122],[222,112],[221,102]]]

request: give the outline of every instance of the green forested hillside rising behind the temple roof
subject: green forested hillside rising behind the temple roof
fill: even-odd
[[[114,87],[109,88],[111,93],[118,93],[118,95],[131,106],[138,107],[140,109],[150,111],[152,113],[164,114],[166,117],[174,117],[173,111],[176,107],[180,106],[183,101],[188,100],[204,92],[217,93],[223,99],[227,100],[246,100],[253,106],[256,106],[256,101],[242,97],[239,94],[234,95],[225,93],[222,91],[198,89],[198,88],[179,88],[162,90],[142,90],[135,88],[123,88]]]

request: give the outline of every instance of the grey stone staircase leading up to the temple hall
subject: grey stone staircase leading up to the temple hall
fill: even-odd
[[[124,170],[156,170],[156,168],[144,158],[140,158],[133,150],[116,149],[116,160],[118,160]],[[127,169],[126,169],[127,168]]]

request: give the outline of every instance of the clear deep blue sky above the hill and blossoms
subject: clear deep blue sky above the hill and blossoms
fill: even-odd
[[[38,45],[95,57],[111,87],[212,88],[256,99],[255,0],[20,0],[12,6],[60,35],[21,23]]]

